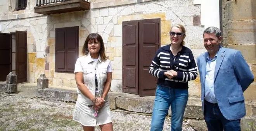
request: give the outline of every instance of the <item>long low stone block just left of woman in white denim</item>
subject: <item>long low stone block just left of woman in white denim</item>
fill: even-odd
[[[77,100],[77,95],[78,93],[74,89],[45,88],[37,89],[36,92],[37,97],[65,102],[75,102]]]

